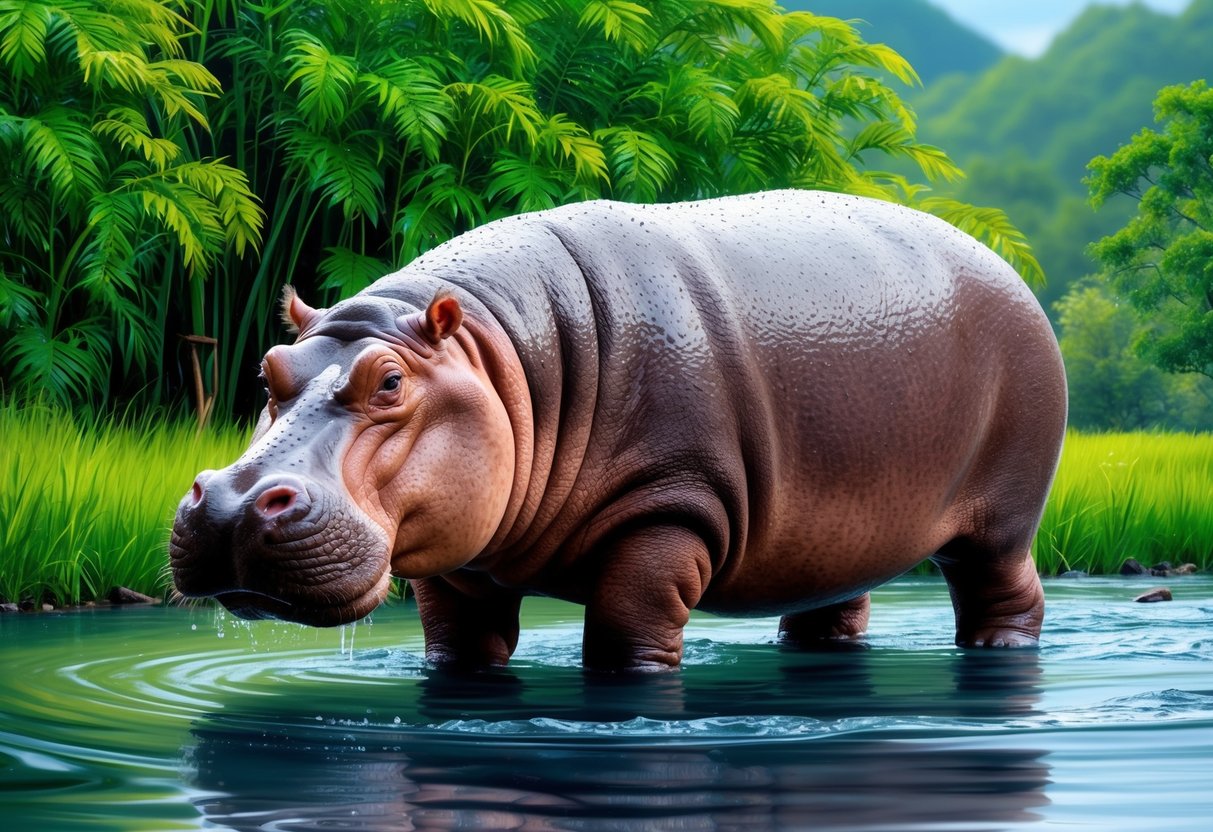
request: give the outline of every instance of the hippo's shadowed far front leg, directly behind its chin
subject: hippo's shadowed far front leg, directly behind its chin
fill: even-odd
[[[518,646],[520,593],[469,595],[442,577],[409,582],[417,597],[428,661],[457,667],[492,667],[509,661]]]

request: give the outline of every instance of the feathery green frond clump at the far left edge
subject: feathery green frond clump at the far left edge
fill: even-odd
[[[0,0],[0,366],[103,397],[163,354],[158,300],[260,240],[244,175],[183,141],[218,91],[158,0]],[[118,375],[118,374],[115,374]],[[159,372],[153,370],[153,377]]]

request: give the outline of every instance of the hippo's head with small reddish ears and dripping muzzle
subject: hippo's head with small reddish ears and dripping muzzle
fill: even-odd
[[[262,361],[252,443],[177,508],[173,582],[241,617],[341,625],[391,575],[448,572],[488,546],[513,433],[455,296],[318,310],[289,290],[284,313],[298,338]]]

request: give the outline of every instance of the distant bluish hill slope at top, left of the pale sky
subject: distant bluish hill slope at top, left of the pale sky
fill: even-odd
[[[993,41],[927,0],[798,0],[787,11],[856,19],[864,40],[888,44],[929,85],[952,73],[980,73],[1002,57]]]

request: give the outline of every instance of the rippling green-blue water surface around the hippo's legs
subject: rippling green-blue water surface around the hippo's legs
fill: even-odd
[[[0,816],[44,830],[1208,830],[1213,577],[1046,585],[1037,650],[951,646],[947,591],[873,593],[860,648],[696,615],[680,672],[581,672],[523,608],[507,671],[205,610],[0,617]],[[352,645],[351,645],[352,642]]]

